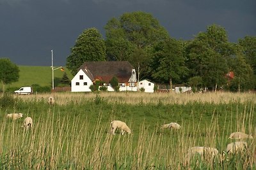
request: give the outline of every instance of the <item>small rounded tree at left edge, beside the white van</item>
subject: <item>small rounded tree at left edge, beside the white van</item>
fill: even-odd
[[[2,58],[0,59],[0,81],[4,85],[19,81],[19,67],[13,64],[10,59]]]

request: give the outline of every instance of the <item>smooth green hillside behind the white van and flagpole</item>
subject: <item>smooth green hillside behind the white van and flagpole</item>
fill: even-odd
[[[56,66],[57,68],[58,66]],[[64,73],[67,73],[69,80],[72,80],[73,76],[70,71],[63,67],[65,71],[56,69],[54,71],[54,87],[58,86],[60,79]],[[19,66],[20,78],[19,81],[7,85],[6,87],[23,87],[38,84],[42,87],[52,87],[52,69],[50,66]]]

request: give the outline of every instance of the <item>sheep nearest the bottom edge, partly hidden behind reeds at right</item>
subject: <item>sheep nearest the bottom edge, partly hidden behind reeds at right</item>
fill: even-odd
[[[212,162],[215,157],[220,157],[220,154],[216,148],[194,146],[188,149],[185,157],[185,166],[190,164],[191,159],[193,159],[196,154],[200,156],[201,160],[205,160],[206,162]]]

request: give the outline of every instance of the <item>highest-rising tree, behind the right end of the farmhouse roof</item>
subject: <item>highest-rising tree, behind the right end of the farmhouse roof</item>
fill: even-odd
[[[148,74],[152,47],[169,38],[158,20],[142,11],[111,18],[105,29],[108,59],[129,61],[141,78]]]

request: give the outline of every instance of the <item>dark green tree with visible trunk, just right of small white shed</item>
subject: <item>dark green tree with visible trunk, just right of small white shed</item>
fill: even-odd
[[[170,89],[172,83],[181,83],[182,77],[188,74],[185,66],[182,42],[168,39],[155,47],[152,76],[162,82],[169,81]]]

